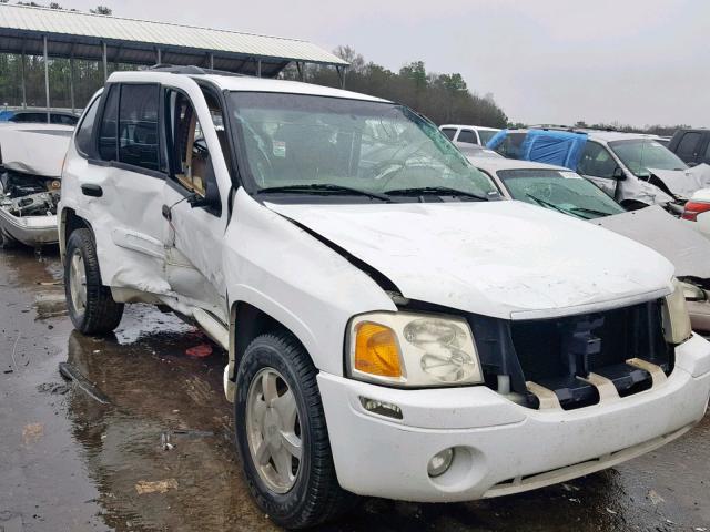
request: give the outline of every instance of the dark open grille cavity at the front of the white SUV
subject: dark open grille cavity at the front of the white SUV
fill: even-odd
[[[556,319],[510,321],[510,352],[501,349],[499,358],[507,356],[504,364],[491,364],[495,360],[486,357],[486,383],[496,389],[495,376],[501,367],[508,374],[519,371],[517,378],[511,377],[513,391],[523,397],[525,406],[539,407],[525,388],[526,381],[532,381],[552,390],[565,410],[599,402],[597,388],[579,379],[590,372],[611,380],[621,397],[648,390],[650,374],[626,360],[640,358],[660,366],[667,375],[672,371],[673,350],[663,339],[661,324],[660,300]]]

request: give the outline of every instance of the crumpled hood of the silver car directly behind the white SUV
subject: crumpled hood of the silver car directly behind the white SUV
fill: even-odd
[[[678,277],[710,278],[710,242],[658,205],[590,222],[660,253]]]

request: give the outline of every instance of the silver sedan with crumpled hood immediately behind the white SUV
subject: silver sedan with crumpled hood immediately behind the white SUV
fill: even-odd
[[[576,172],[529,161],[469,156],[508,200],[587,219],[668,258],[686,296],[694,330],[710,331],[710,242],[660,206],[627,212]],[[710,205],[709,205],[710,209]]]

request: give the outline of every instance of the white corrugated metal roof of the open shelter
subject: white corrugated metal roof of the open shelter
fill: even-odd
[[[186,48],[204,52],[278,58],[347,65],[320,47],[296,39],[195,28],[146,20],[123,19],[79,11],[0,4],[0,31],[33,32],[64,38],[89,38],[153,47]]]

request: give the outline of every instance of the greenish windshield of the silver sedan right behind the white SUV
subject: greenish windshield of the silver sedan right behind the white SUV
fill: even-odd
[[[500,170],[498,177],[514,200],[591,219],[623,213],[623,208],[576,172]]]

